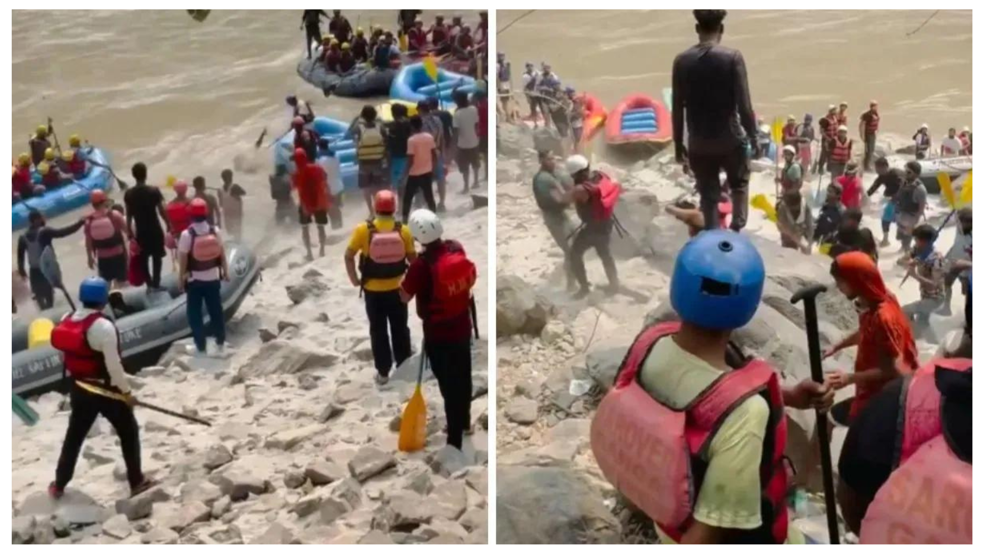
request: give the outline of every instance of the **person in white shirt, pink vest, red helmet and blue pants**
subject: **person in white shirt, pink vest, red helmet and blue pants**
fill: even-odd
[[[221,280],[229,279],[228,260],[218,229],[209,224],[209,206],[196,198],[188,206],[192,223],[178,238],[178,282],[188,294],[186,312],[194,344],[190,354],[201,356],[225,353],[225,319],[222,316]],[[209,326],[215,338],[215,351],[206,347],[202,305],[209,313]]]

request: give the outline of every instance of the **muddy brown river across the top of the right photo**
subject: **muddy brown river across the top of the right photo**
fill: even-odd
[[[697,42],[689,10],[527,12],[496,12],[497,49],[512,62],[514,90],[524,62],[545,61],[565,85],[608,108],[633,92],[660,99],[673,58]],[[877,99],[883,130],[911,137],[928,123],[939,144],[948,127],[971,126],[971,12],[940,11],[907,35],[931,14],[731,10],[722,43],[742,51],[753,105],[767,120],[816,118],[847,101],[856,121]]]

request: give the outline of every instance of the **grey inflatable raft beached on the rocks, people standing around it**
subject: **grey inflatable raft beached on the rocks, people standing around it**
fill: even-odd
[[[242,245],[230,244],[229,281],[222,282],[222,313],[228,321],[260,276],[260,264],[253,252]],[[144,287],[127,288],[111,296],[112,307],[106,315],[116,318],[123,365],[136,372],[154,364],[171,342],[191,336],[185,315],[185,296],[178,292],[177,276],[161,280],[165,292],[149,296]],[[112,311],[112,313],[110,313]],[[15,321],[13,340],[12,388],[22,396],[49,390],[62,378],[62,356],[50,344],[29,348],[31,323],[38,319],[60,321],[64,308],[41,312],[31,321]],[[208,317],[208,316],[207,316]],[[37,325],[34,325],[36,328]]]

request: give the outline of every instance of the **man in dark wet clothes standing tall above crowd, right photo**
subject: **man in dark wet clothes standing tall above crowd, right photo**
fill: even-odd
[[[694,10],[700,42],[673,61],[673,142],[676,159],[693,170],[701,194],[705,228],[718,228],[718,176],[727,175],[734,211],[731,229],[748,217],[748,158],[755,137],[755,116],[741,52],[721,46],[725,10]],[[684,120],[689,137],[684,145]],[[755,141],[752,148],[758,150]]]

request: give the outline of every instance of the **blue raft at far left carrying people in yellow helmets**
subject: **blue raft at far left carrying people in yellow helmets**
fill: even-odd
[[[97,148],[88,150],[86,154],[93,161],[103,165],[109,164],[106,154]],[[39,183],[40,178],[36,172],[33,174],[35,183]],[[89,172],[81,179],[49,190],[41,196],[35,196],[14,204],[11,210],[13,230],[20,230],[28,226],[28,214],[31,210],[37,210],[46,217],[52,217],[86,206],[89,204],[90,192],[109,190],[112,181],[113,177],[107,169],[91,164],[89,165]]]

